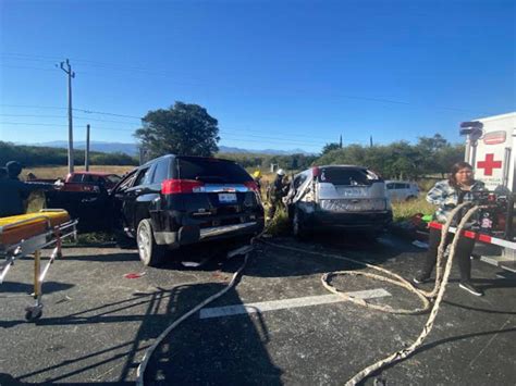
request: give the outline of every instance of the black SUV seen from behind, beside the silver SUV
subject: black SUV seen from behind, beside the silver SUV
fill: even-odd
[[[136,238],[145,265],[158,265],[167,249],[263,229],[257,185],[229,160],[163,155],[132,171],[112,194],[118,227]]]

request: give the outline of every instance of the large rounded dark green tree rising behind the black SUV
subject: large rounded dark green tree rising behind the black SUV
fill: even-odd
[[[209,157],[219,150],[218,121],[198,104],[175,102],[168,110],[149,111],[135,137],[151,158],[168,153]]]

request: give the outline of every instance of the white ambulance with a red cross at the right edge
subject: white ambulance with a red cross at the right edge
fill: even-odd
[[[516,272],[516,112],[463,122],[460,135],[466,137],[465,161],[474,166],[475,178],[486,184],[493,199],[500,200],[497,227],[489,234],[474,235],[483,244],[477,242],[475,253],[483,261]]]

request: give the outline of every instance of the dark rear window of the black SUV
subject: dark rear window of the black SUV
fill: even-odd
[[[251,180],[249,174],[232,161],[181,157],[177,158],[177,164],[181,179],[197,179],[213,184],[243,184]]]

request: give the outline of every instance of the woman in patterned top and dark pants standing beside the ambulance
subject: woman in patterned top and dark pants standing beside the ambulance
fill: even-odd
[[[472,167],[467,162],[457,162],[452,166],[450,177],[441,180],[430,189],[427,195],[427,201],[438,206],[433,220],[444,224],[452,210],[459,203],[471,201],[474,194],[486,190],[482,182],[474,179]],[[458,237],[458,236],[457,236]],[[453,234],[446,236],[445,247],[453,240]],[[414,277],[414,283],[421,284],[430,279],[433,267],[435,266],[438,248],[441,242],[441,231],[430,228],[429,249],[425,259],[422,269]],[[475,240],[460,237],[455,249],[455,259],[458,263],[460,273],[459,287],[475,296],[482,296],[482,290],[471,284],[471,252],[475,247]]]

